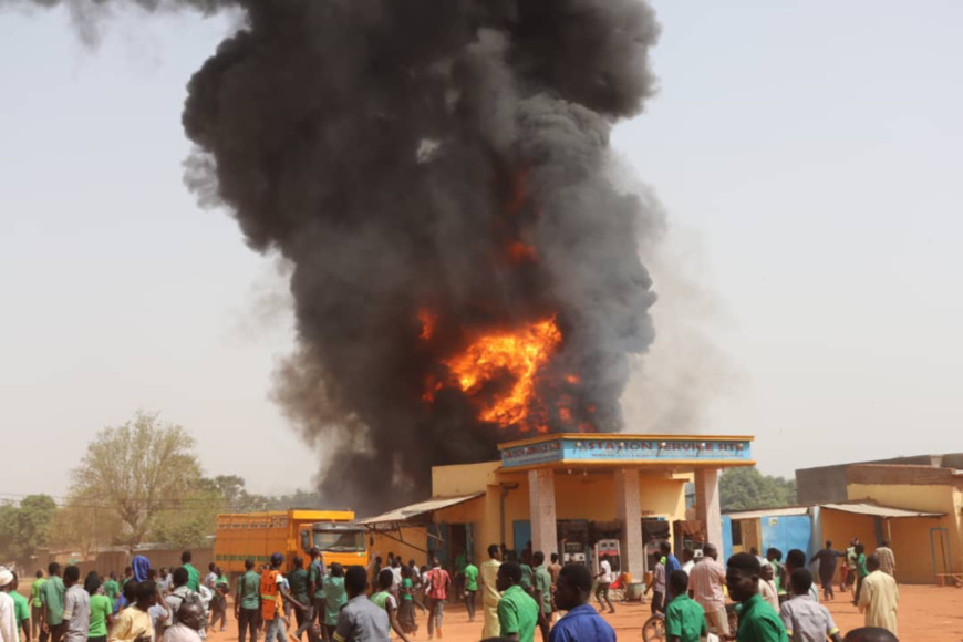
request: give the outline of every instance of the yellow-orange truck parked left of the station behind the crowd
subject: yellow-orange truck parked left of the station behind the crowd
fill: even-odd
[[[217,516],[214,542],[216,563],[225,573],[245,571],[245,560],[252,558],[259,569],[275,552],[284,556],[289,570],[294,556],[304,557],[318,547],[324,562],[344,566],[367,565],[364,529],[354,524],[353,510],[277,510]]]

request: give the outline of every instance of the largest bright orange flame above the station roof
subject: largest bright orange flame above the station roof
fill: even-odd
[[[547,426],[532,426],[526,420],[529,418],[538,371],[561,339],[555,319],[548,319],[514,333],[482,336],[463,353],[445,361],[445,365],[462,391],[482,405],[478,414],[482,421],[503,427],[518,425],[522,432],[546,432]],[[509,390],[490,398],[477,396],[485,384],[506,375],[514,381]]]

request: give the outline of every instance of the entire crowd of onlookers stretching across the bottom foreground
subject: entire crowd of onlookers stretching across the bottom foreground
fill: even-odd
[[[173,570],[155,570],[146,557],[135,557],[121,580],[94,571],[82,580],[79,567],[51,563],[45,578],[38,572],[29,598],[18,591],[14,572],[0,570],[0,642],[200,642],[208,632],[226,630],[231,592],[238,642],[258,642],[260,635],[265,642],[387,641],[392,633],[411,642],[420,631],[418,613],[428,640],[442,639],[445,604],[464,600],[475,622],[478,592],[483,640],[614,642],[600,613],[615,610],[609,591],[617,578],[607,559],[593,574],[586,565],[562,566],[555,553],[516,556],[496,545],[487,553],[480,566],[459,556],[454,580],[437,559],[417,567],[390,553],[386,563],[374,556],[367,567],[344,568],[327,565],[311,549],[307,562],[296,557],[282,572],[286,559],[275,553],[260,568],[246,560],[234,587],[214,563],[201,577],[190,551]],[[765,558],[755,550],[736,553],[725,566],[718,557],[711,543],[683,550],[682,561],[669,542],[653,552],[645,592],[669,642],[710,634],[739,642],[843,642],[819,603],[801,550],[790,550],[785,561],[777,549]],[[856,540],[847,551],[826,542],[809,560],[818,563],[824,599],[835,597],[840,558],[840,588],[852,591],[866,614],[866,628],[850,631],[845,642],[893,642],[899,592],[892,550],[883,543],[867,557]]]

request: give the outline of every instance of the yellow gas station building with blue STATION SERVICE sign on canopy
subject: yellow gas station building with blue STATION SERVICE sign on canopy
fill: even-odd
[[[374,549],[405,559],[487,558],[491,543],[641,578],[646,551],[723,543],[718,477],[753,466],[753,437],[551,434],[499,445],[497,462],[437,466],[431,499],[360,520]],[[694,505],[686,487],[695,488]]]

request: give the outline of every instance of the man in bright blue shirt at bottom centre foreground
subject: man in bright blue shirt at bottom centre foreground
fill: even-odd
[[[615,642],[615,631],[589,600],[592,573],[582,565],[567,565],[556,581],[555,601],[559,611],[568,611],[556,622],[549,642]]]

